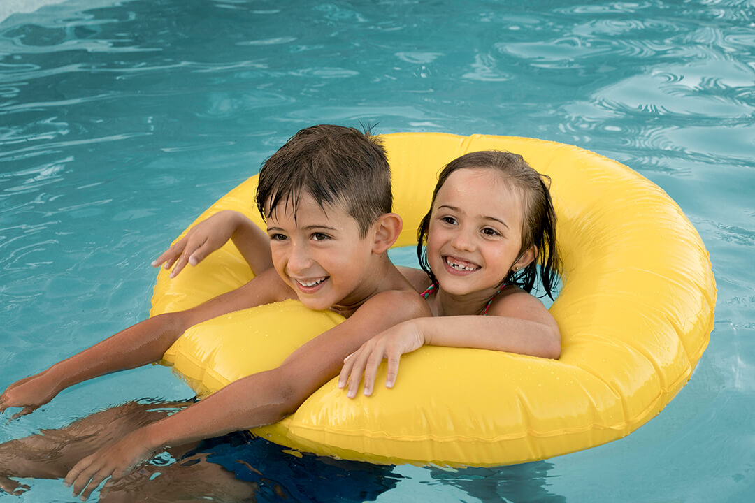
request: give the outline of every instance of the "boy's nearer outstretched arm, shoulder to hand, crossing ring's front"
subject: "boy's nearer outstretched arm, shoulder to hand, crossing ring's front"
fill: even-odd
[[[179,413],[134,431],[75,465],[66,476],[74,495],[88,495],[106,477],[122,477],[166,445],[176,446],[277,422],[337,376],[344,357],[370,337],[411,317],[427,316],[414,292],[369,299],[344,323],[307,342],[276,369],[239,379]]]

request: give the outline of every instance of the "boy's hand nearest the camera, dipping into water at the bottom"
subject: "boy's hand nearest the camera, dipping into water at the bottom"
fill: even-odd
[[[149,446],[143,432],[134,431],[76,463],[63,484],[73,485],[73,495],[81,494],[85,501],[107,477],[125,477],[151,458],[155,450],[156,447]]]

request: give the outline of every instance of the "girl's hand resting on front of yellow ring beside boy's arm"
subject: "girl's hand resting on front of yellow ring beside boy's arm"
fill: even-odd
[[[404,353],[409,353],[425,344],[424,334],[418,327],[417,320],[405,321],[391,327],[362,344],[344,360],[341,376],[338,377],[338,388],[344,388],[349,383],[347,396],[356,397],[362,374],[365,376],[365,396],[372,394],[377,367],[384,358],[388,359],[388,375],[385,379],[387,388],[393,388],[396,374],[399,373],[399,359]]]

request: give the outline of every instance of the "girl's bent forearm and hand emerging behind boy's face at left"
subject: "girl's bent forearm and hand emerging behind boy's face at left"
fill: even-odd
[[[233,240],[254,274],[259,275],[273,267],[270,238],[247,216],[232,210],[219,211],[194,225],[152,262],[152,266],[162,264],[169,269],[175,264],[171,271],[171,278],[174,278],[186,264],[199,264],[229,239]]]

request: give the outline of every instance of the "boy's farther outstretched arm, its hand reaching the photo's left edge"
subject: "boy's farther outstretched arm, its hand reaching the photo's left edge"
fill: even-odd
[[[71,385],[117,370],[153,363],[162,358],[188,327],[220,314],[288,298],[290,292],[276,271],[270,269],[243,287],[195,308],[151,317],[54,364],[42,373],[8,386],[0,395],[0,413],[8,407],[23,407],[20,413],[13,416],[12,419],[15,419],[48,403]]]

